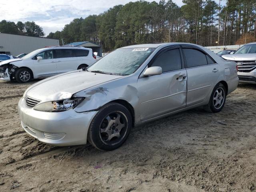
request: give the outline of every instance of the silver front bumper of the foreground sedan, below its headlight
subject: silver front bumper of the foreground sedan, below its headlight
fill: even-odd
[[[28,108],[21,98],[18,113],[22,128],[34,138],[47,144],[70,146],[86,144],[88,128],[97,111],[41,112]]]

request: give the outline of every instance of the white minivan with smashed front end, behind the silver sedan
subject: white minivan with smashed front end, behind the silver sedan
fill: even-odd
[[[84,47],[50,47],[38,49],[23,58],[0,63],[0,80],[29,82],[56,74],[85,69],[96,62],[92,49]]]

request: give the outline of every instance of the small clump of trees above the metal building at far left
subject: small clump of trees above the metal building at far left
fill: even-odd
[[[42,27],[37,25],[35,22],[24,22],[18,21],[17,23],[2,20],[0,22],[0,32],[16,35],[28,35],[33,37],[42,37],[44,32]]]

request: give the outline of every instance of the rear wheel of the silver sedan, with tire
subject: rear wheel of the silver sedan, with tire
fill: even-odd
[[[218,83],[211,94],[209,103],[204,106],[207,112],[217,113],[222,110],[226,101],[226,88],[222,83]]]

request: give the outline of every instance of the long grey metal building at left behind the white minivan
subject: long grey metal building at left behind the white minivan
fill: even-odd
[[[59,46],[59,44],[57,39],[0,33],[0,54],[17,56],[40,48]]]

